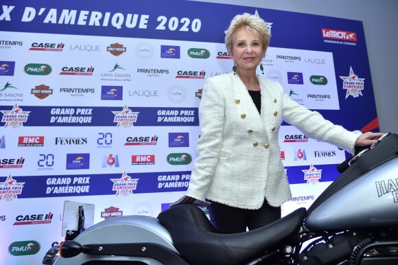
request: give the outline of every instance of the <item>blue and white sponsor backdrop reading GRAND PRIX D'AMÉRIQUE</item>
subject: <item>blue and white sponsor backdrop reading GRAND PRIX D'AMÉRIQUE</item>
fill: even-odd
[[[360,21],[194,1],[2,1],[0,264],[40,264],[77,230],[65,203],[75,217],[86,209],[88,227],[157,216],[183,196],[202,86],[231,71],[224,30],[242,12],[272,33],[261,78],[349,130],[378,130]],[[347,153],[285,123],[279,143],[285,215],[308,207]]]

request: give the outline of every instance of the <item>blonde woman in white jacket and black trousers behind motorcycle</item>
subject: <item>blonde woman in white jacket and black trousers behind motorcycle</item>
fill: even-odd
[[[237,233],[281,218],[281,204],[291,196],[278,144],[282,119],[308,137],[351,153],[382,133],[351,133],[291,100],[278,82],[260,79],[256,69],[266,55],[270,32],[259,16],[235,16],[225,34],[233,73],[204,84],[202,133],[187,198],[206,198],[215,227]]]

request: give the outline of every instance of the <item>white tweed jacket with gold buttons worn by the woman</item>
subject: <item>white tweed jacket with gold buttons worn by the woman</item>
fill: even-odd
[[[261,115],[239,76],[226,73],[205,82],[188,196],[243,209],[259,209],[264,198],[275,207],[288,200],[292,194],[278,143],[282,119],[307,137],[353,153],[359,135],[294,102],[278,82],[259,79],[259,84]]]

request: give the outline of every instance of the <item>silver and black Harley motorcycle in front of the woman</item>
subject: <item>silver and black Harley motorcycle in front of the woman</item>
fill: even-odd
[[[398,264],[398,135],[338,166],[308,208],[265,227],[222,234],[196,205],[99,222],[53,246],[43,264]]]

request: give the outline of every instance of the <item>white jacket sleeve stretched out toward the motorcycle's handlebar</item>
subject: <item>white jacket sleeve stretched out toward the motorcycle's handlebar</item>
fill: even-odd
[[[283,93],[283,89],[282,89]],[[331,143],[353,154],[360,135],[333,124],[317,111],[310,111],[283,93],[283,119],[299,128],[307,137]]]

